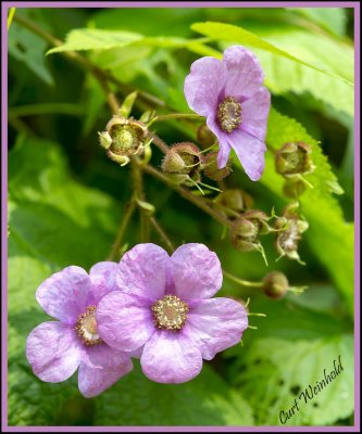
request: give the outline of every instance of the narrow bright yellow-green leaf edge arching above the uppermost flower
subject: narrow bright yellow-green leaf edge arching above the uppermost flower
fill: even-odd
[[[315,69],[320,73],[324,73],[332,77],[339,78],[340,80],[349,82],[349,85],[352,85],[352,82],[347,80],[345,77],[338,76],[337,74],[327,71],[324,67],[321,67],[320,65],[316,65],[309,60],[308,61],[304,60],[300,55],[294,54],[294,51],[289,52],[283,50],[274,46],[273,43],[270,43],[266,40],[260,38],[253,33],[244,29],[242,27],[237,27],[224,23],[207,22],[207,23],[195,23],[192,24],[191,28],[192,30],[205,35],[214,40],[238,42],[257,49],[265,50],[270,53],[277,54],[280,58],[285,58],[288,59],[289,61],[297,62],[301,65],[308,66],[312,69]]]

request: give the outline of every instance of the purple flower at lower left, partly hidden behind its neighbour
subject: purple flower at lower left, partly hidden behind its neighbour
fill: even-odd
[[[58,383],[79,368],[79,391],[90,398],[133,369],[129,354],[102,341],[96,321],[100,298],[117,288],[117,268],[115,263],[99,263],[88,276],[83,268],[72,266],[38,288],[38,303],[59,320],[42,322],[26,342],[26,357],[40,380]]]

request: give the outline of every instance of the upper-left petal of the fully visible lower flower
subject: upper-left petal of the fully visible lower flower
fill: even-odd
[[[152,243],[137,244],[124,254],[116,277],[121,290],[149,301],[162,298],[170,256]]]

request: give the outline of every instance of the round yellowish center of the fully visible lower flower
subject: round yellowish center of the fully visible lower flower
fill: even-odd
[[[188,305],[176,295],[165,295],[152,305],[152,312],[159,329],[180,330],[187,319]]]

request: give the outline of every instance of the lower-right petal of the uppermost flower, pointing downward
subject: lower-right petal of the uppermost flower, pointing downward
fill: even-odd
[[[236,152],[248,177],[252,181],[258,181],[265,167],[265,143],[241,129],[236,129],[230,133],[229,143]]]

